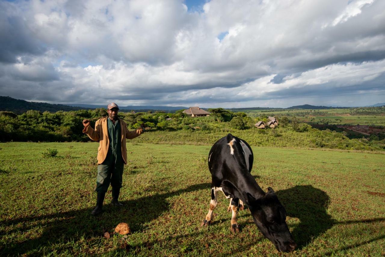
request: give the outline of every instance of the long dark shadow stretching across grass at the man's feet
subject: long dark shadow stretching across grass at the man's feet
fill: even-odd
[[[146,224],[156,219],[162,213],[170,210],[167,198],[182,193],[210,188],[209,183],[192,185],[187,188],[169,193],[156,194],[133,200],[123,201],[124,207],[115,208],[104,201],[104,212],[102,215],[93,217],[90,215],[92,208],[84,208],[69,212],[60,212],[49,215],[30,215],[25,218],[4,220],[2,226],[7,228],[0,232],[0,237],[11,233],[23,233],[30,230],[42,229],[40,235],[35,238],[24,237],[19,242],[9,242],[7,245],[0,244],[0,251],[5,255],[38,254],[32,252],[34,249],[44,249],[50,252],[50,246],[54,244],[65,244],[65,242],[78,241],[82,238],[92,240],[92,237],[102,236],[104,231],[112,232],[120,222],[127,222],[131,231],[144,230]],[[39,252],[42,254],[42,252]]]

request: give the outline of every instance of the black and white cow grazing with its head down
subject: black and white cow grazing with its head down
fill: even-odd
[[[208,156],[211,173],[210,209],[201,226],[208,226],[217,205],[217,192],[222,191],[230,199],[228,210],[232,210],[231,231],[239,232],[236,219],[238,207],[243,203],[249,207],[254,223],[276,249],[281,252],[293,251],[296,244],[286,225],[286,210],[272,188],[265,193],[251,176],[253,151],[248,143],[232,134],[219,139]]]

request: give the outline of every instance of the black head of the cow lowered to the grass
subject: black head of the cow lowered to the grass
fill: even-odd
[[[246,203],[253,214],[254,223],[278,251],[291,252],[295,249],[296,244],[286,224],[286,210],[271,187],[258,200],[248,194]]]

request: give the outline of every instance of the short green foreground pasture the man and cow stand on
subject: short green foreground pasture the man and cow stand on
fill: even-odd
[[[127,143],[120,200],[92,217],[98,143],[0,143],[0,252],[2,255],[373,255],[385,254],[385,155],[343,150],[253,147],[252,174],[271,186],[288,213],[298,244],[277,253],[238,214],[229,230],[228,200],[209,209],[209,145]],[[56,157],[42,152],[57,149]],[[112,233],[127,222],[132,233]]]

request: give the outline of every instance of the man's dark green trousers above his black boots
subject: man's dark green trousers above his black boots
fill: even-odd
[[[97,166],[96,189],[98,193],[107,192],[108,187],[122,187],[124,162],[121,151],[109,149],[102,164]]]

